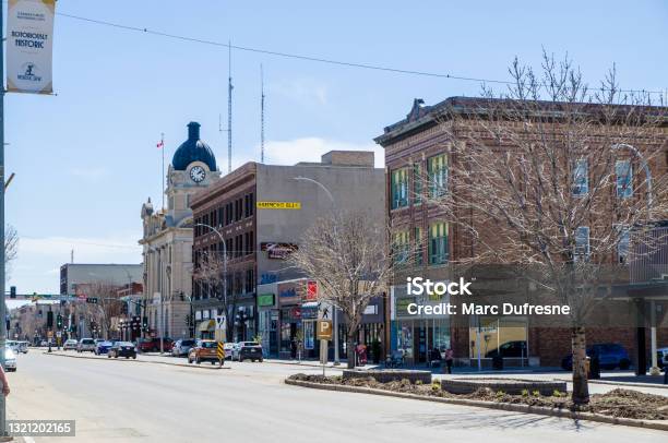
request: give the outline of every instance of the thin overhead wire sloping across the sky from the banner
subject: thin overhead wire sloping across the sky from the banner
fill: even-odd
[[[202,44],[202,45],[210,45],[210,46],[228,48],[228,50],[235,49],[235,50],[247,51],[247,52],[263,53],[263,55],[266,55],[266,56],[283,57],[283,58],[289,58],[289,59],[296,59],[296,60],[305,60],[305,61],[313,61],[313,62],[319,62],[319,63],[336,64],[336,65],[339,65],[339,67],[347,67],[347,68],[359,68],[359,69],[367,69],[367,70],[373,70],[373,71],[383,71],[383,72],[391,72],[391,73],[396,73],[396,74],[420,75],[420,76],[429,76],[429,77],[437,77],[437,79],[460,80],[460,81],[463,81],[463,82],[494,83],[494,84],[504,84],[504,85],[513,84],[513,82],[508,81],[508,80],[482,79],[482,77],[474,77],[474,76],[453,75],[453,74],[449,74],[449,73],[439,73],[439,72],[429,72],[429,71],[417,71],[417,70],[399,69],[399,68],[393,68],[393,67],[383,67],[383,65],[372,64],[372,63],[358,63],[358,62],[344,61],[344,60],[333,60],[333,59],[327,59],[327,58],[322,58],[322,57],[311,57],[311,56],[302,56],[302,55],[290,53],[290,52],[272,51],[272,50],[267,50],[267,49],[251,48],[251,47],[248,47],[248,46],[231,45],[229,43],[225,44],[225,43],[215,41],[215,40],[207,40],[207,39],[203,39],[203,38],[189,37],[189,36],[179,35],[179,34],[164,33],[164,32],[160,32],[160,31],[150,29],[147,27],[123,25],[123,24],[120,24],[120,23],[114,23],[114,22],[108,22],[108,21],[104,21],[104,20],[96,20],[96,19],[88,19],[88,17],[84,17],[84,16],[80,16],[80,15],[73,15],[73,14],[67,14],[67,13],[62,13],[62,12],[57,12],[56,14],[64,16],[64,17],[68,17],[68,19],[79,20],[79,21],[82,21],[82,22],[88,22],[88,23],[94,23],[94,24],[104,25],[104,26],[116,27],[116,28],[124,29],[124,31],[133,31],[133,32],[151,34],[151,35],[156,35],[156,36],[160,36],[160,37],[167,37],[167,38],[172,38],[172,39],[177,39],[177,40],[182,40],[182,41],[190,41],[190,43],[198,43],[198,44]],[[661,94],[661,95],[666,94],[665,91],[645,91],[645,89],[619,89],[619,91],[622,92],[622,93],[644,93],[644,94]]]

